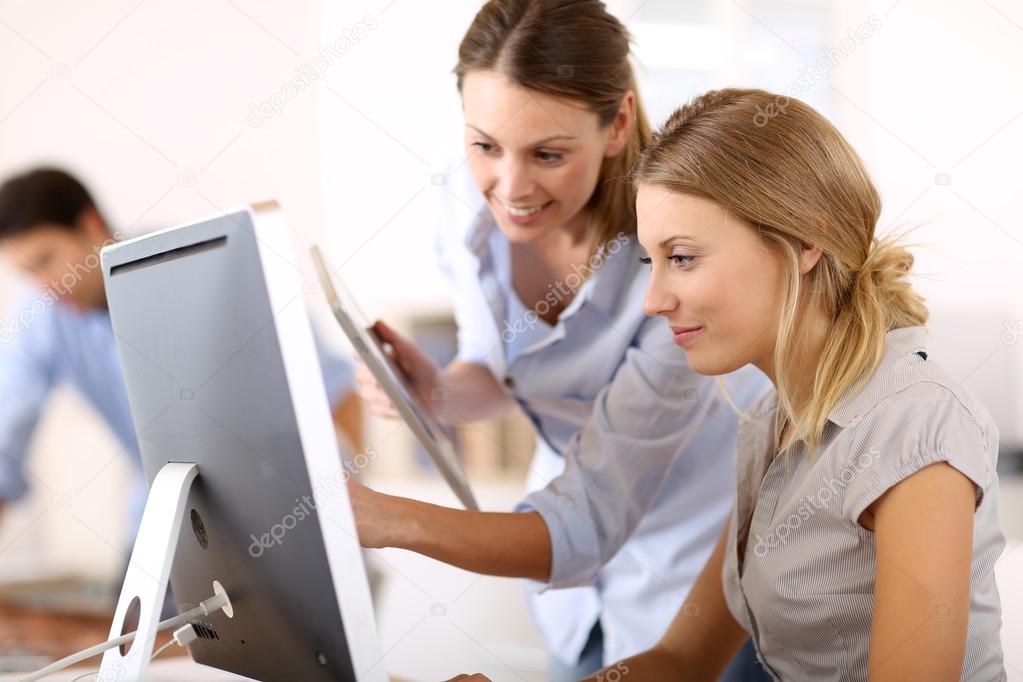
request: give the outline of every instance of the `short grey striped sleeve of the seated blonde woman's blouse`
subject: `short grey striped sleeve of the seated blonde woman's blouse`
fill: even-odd
[[[979,506],[994,475],[994,428],[938,383],[915,383],[887,397],[856,424],[843,468],[833,474],[837,487],[848,486],[843,516],[858,522],[888,490],[937,462],[973,483]]]

